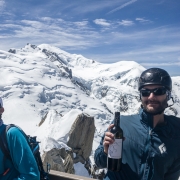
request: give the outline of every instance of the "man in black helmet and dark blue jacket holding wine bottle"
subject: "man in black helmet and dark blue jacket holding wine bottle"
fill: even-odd
[[[144,71],[138,84],[142,109],[137,115],[121,116],[124,141],[122,168],[107,171],[105,180],[178,180],[180,177],[180,118],[164,114],[171,99],[172,80],[160,68]],[[107,167],[108,146],[114,142],[110,125],[94,159]]]

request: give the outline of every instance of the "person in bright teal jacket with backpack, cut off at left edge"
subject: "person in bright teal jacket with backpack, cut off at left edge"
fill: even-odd
[[[4,129],[0,120],[0,133]],[[12,127],[7,132],[11,159],[5,158],[0,149],[0,180],[40,180],[40,173],[32,151],[21,131]]]

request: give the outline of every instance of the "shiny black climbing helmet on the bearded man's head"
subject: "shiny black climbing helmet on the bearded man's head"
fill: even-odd
[[[167,90],[172,90],[172,80],[170,75],[160,68],[150,68],[145,70],[138,82],[138,90],[141,90],[146,85],[161,85]]]

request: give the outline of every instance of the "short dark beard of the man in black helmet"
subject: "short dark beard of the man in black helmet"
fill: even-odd
[[[157,114],[161,114],[161,113],[163,113],[164,112],[164,110],[167,108],[167,106],[168,106],[168,104],[167,104],[167,100],[166,99],[164,99],[162,102],[160,102],[160,101],[151,101],[151,102],[155,102],[155,103],[157,103],[159,106],[157,106],[157,108],[153,108],[153,109],[151,109],[151,108],[148,108],[148,100],[147,101],[144,101],[143,103],[142,103],[142,106],[143,106],[143,109],[146,111],[146,112],[148,112],[148,113],[150,113],[150,114],[152,114],[152,115],[157,115]]]

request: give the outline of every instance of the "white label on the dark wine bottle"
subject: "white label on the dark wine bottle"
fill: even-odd
[[[115,139],[113,144],[109,145],[108,157],[112,159],[120,159],[122,154],[122,139]]]

